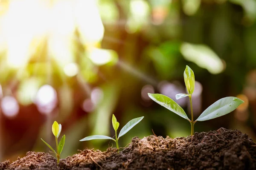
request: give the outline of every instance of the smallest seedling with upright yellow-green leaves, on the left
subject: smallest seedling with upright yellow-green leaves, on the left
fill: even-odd
[[[53,124],[52,124],[52,133],[55,136],[57,152],[55,152],[55,150],[52,149],[52,147],[49,144],[47,144],[47,142],[45,142],[42,138],[41,138],[41,140],[52,150],[53,153],[55,153],[55,155],[57,157],[57,166],[58,166],[58,164],[60,162],[61,151],[63,150],[64,144],[65,144],[66,136],[63,135],[60,143],[58,144],[58,137],[61,134],[61,124],[58,124],[56,121],[53,122]]]

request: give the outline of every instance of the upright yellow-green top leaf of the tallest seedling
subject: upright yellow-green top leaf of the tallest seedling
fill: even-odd
[[[195,75],[192,69],[187,65],[184,71],[184,81],[189,94],[193,94],[195,89]]]

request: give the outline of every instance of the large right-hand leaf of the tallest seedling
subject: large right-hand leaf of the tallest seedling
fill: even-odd
[[[223,116],[234,111],[239,105],[244,103],[237,97],[225,97],[209,106],[196,121],[205,121]]]

